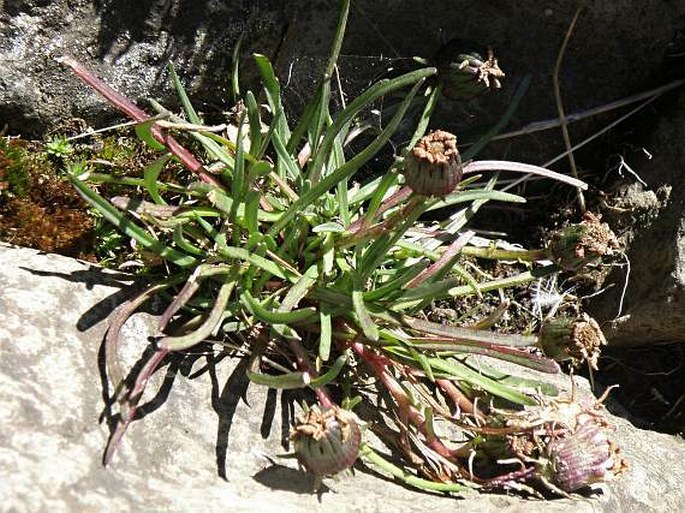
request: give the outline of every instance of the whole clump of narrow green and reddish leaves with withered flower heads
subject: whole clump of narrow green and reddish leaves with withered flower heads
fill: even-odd
[[[472,245],[467,223],[484,203],[524,201],[497,191],[496,176],[478,181],[483,173],[532,173],[572,187],[585,184],[516,162],[467,161],[454,135],[426,135],[443,86],[455,98],[501,86],[504,73],[492,53],[486,60],[460,55],[451,64],[443,57],[442,71],[426,66],[381,80],[333,112],[331,78],[349,1],[342,4],[330,59],[299,120],[285,112],[269,60],[255,55],[265,105],[248,91],[226,136],[203,125],[173,69],[185,117],[160,105],[150,117],[74,59],[61,58],[137,121],[140,137],[161,152],[140,178],[84,166],[69,174],[106,219],[166,263],[166,276],[121,305],[106,335],[120,417],[105,462],[135,419],[148,379],[171,353],[230,340],[241,346],[239,354],[249,355],[253,383],[311,391],[291,440],[317,486],[359,459],[409,485],[445,493],[468,487],[532,491],[545,483],[568,494],[620,474],[626,464],[601,401],[579,404],[526,376],[528,369],[560,372],[555,359],[594,364],[603,342],[594,321],[581,315],[550,321],[541,335],[501,334],[424,315],[434,300],[481,296],[562,268],[578,269],[614,248],[606,230],[603,249],[588,242],[588,233],[605,226],[597,218],[543,250]],[[233,85],[238,92],[237,71]],[[366,147],[352,152],[360,114],[391,93],[403,98],[392,118]],[[377,178],[356,183],[355,173],[388,144],[417,103],[423,112],[395,162]],[[191,152],[173,132],[193,138],[197,149]],[[190,178],[181,173],[161,181],[171,159]],[[130,195],[101,196],[98,184],[111,182],[131,186]],[[448,206],[453,213],[442,221],[422,220]],[[528,270],[482,281],[461,265],[467,257],[518,260]],[[154,297],[171,298],[154,350],[125,379],[117,359],[121,327]],[[497,361],[523,373],[502,371]]]

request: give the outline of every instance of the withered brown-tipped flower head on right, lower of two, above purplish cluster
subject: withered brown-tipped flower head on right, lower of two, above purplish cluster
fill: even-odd
[[[597,370],[601,346],[607,341],[597,321],[584,313],[546,320],[540,328],[539,344],[547,356],[558,362],[570,360],[574,367],[588,362]]]

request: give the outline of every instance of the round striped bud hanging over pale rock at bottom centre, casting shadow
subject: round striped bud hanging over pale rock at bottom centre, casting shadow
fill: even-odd
[[[297,461],[317,478],[350,468],[359,456],[361,429],[356,416],[334,407],[313,406],[290,432]]]

